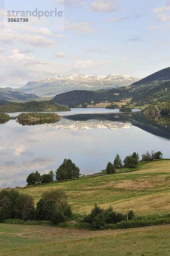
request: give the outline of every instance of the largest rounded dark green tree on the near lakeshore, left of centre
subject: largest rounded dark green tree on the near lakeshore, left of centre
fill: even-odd
[[[80,169],[75,165],[75,163],[72,163],[71,159],[66,158],[56,171],[57,180],[74,179],[78,178],[79,175]]]

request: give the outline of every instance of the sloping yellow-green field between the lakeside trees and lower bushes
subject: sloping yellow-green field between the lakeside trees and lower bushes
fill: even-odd
[[[75,213],[89,213],[95,203],[124,213],[128,209],[141,215],[168,213],[170,160],[142,163],[134,172],[29,186],[19,192],[32,195],[36,203],[42,192],[53,188],[66,192]]]

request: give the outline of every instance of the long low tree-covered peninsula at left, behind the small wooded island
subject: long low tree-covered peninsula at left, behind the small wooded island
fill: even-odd
[[[25,102],[17,103],[12,102],[0,106],[0,111],[3,112],[34,112],[34,111],[45,111],[45,112],[55,112],[55,111],[71,111],[70,108],[59,105],[54,102]]]

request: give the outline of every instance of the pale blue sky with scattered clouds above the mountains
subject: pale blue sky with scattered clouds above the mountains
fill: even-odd
[[[36,8],[63,16],[7,22],[9,10]],[[170,66],[169,41],[170,0],[0,0],[0,87],[70,74],[143,78]]]

